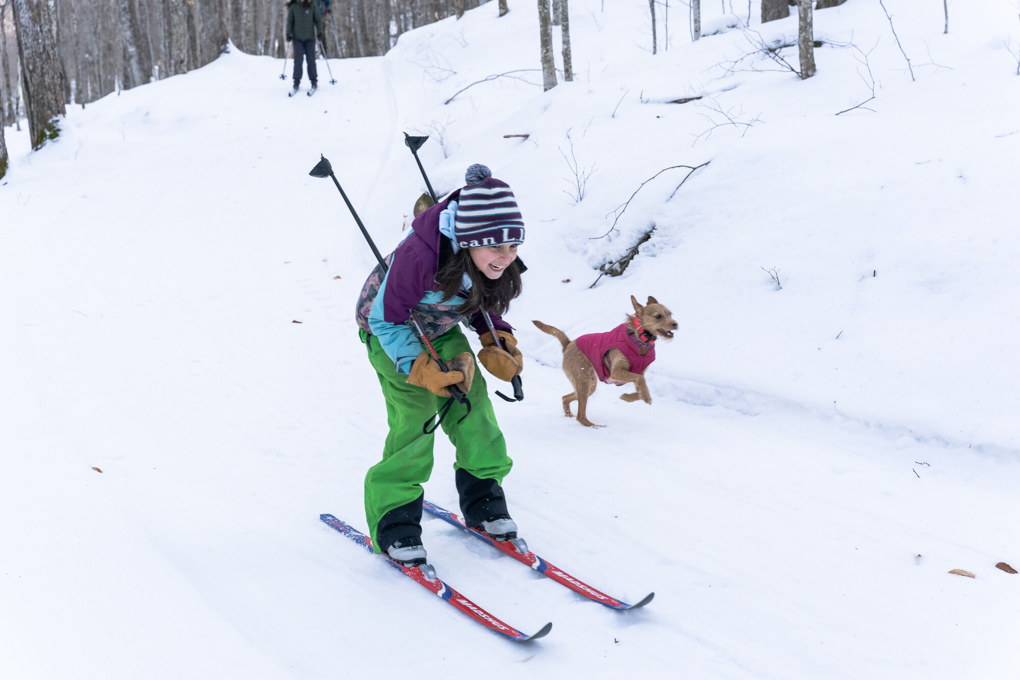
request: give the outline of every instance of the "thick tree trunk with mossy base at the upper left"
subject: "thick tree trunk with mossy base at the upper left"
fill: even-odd
[[[67,78],[57,54],[53,16],[46,0],[13,0],[21,87],[32,148],[60,132],[55,118],[64,114]]]

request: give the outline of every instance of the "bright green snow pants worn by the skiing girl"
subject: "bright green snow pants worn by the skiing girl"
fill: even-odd
[[[424,493],[421,485],[428,481],[432,472],[435,434],[424,434],[422,426],[447,399],[423,387],[408,385],[407,376],[397,373],[393,359],[384,351],[378,339],[361,330],[358,333],[379,379],[390,427],[382,447],[382,459],[369,468],[365,475],[365,517],[372,545],[375,552],[379,552],[376,530],[382,516]],[[459,327],[432,340],[432,346],[445,361],[471,351]],[[464,418],[467,407],[454,402],[443,421],[443,431],[457,448],[454,470],[463,470],[474,477],[502,484],[513,460],[507,455],[506,441],[496,423],[480,366],[474,373],[467,398],[471,401],[471,412],[467,418]],[[461,418],[464,420],[458,423]]]

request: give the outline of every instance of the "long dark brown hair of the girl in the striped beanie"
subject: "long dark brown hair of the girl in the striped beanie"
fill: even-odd
[[[444,294],[444,302],[460,292],[464,286],[464,274],[471,279],[471,290],[468,291],[467,301],[457,308],[457,313],[462,317],[471,317],[481,310],[502,317],[510,308],[510,300],[520,295],[520,268],[516,259],[499,279],[490,279],[475,266],[470,248],[454,252],[450,239],[442,237],[436,283]]]

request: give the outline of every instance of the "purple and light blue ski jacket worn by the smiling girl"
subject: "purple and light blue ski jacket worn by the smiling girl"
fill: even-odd
[[[429,340],[465,320],[457,313],[465,298],[458,295],[443,302],[443,292],[436,283],[440,239],[447,238],[440,233],[440,213],[459,196],[458,189],[419,213],[411,223],[411,233],[385,258],[390,271],[384,277],[376,264],[358,296],[355,310],[358,327],[378,338],[397,372],[404,375],[410,374],[411,365],[423,349],[407,323],[412,310]],[[492,320],[498,330],[513,332],[513,327],[501,317],[492,315]],[[479,336],[489,333],[480,311],[469,323]]]

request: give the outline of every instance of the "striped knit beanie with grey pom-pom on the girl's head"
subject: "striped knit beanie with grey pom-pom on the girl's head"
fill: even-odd
[[[493,177],[480,163],[464,174],[467,186],[460,190],[454,235],[461,248],[480,248],[524,242],[524,222],[506,182]]]

